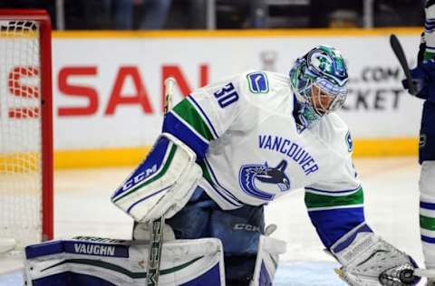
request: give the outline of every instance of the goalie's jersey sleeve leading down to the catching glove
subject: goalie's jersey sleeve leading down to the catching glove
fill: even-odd
[[[308,215],[328,249],[365,221],[362,186],[352,161],[352,137],[349,130],[339,134],[333,144],[336,163],[327,176],[306,186],[304,195]]]

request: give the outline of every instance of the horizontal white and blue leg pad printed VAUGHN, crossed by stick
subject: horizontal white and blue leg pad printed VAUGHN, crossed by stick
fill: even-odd
[[[25,248],[24,281],[33,286],[146,285],[148,244],[97,237]],[[204,238],[163,243],[159,284],[225,286],[222,244]]]

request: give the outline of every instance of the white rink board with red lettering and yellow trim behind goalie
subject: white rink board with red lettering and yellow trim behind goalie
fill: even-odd
[[[349,67],[350,93],[339,113],[362,142],[355,155],[415,155],[421,101],[401,89],[390,33],[414,65],[420,29],[54,32],[55,166],[139,162],[160,133],[168,76],[179,82],[177,102],[237,72],[287,73],[319,43],[341,50]]]

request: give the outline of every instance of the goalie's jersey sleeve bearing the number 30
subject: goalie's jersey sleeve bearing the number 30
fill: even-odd
[[[163,132],[179,138],[203,158],[210,141],[224,134],[242,112],[243,76],[237,75],[192,92],[163,121]]]

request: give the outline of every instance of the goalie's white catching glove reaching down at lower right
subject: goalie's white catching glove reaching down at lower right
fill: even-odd
[[[417,264],[406,253],[386,243],[367,224],[360,224],[336,243],[331,252],[343,267],[335,270],[352,286],[416,285]]]

